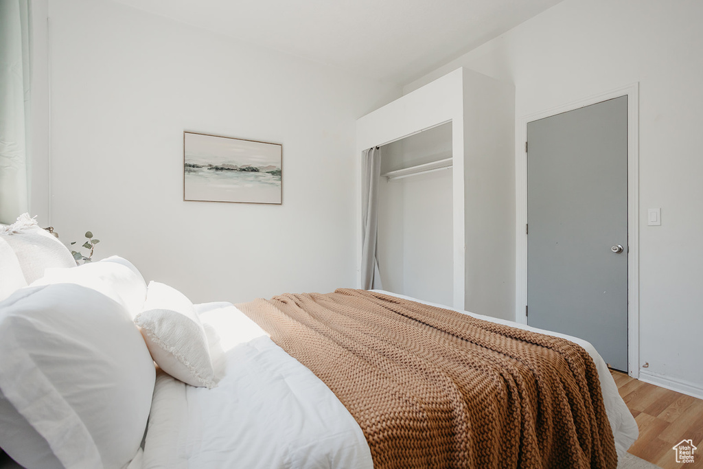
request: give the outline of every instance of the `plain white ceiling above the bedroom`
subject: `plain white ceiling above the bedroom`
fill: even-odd
[[[373,79],[406,84],[561,0],[117,0]]]

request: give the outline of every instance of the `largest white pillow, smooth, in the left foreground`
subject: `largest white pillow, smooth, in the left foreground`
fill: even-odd
[[[0,302],[0,356],[4,399],[65,468],[122,468],[136,456],[155,370],[119,303],[82,285],[22,288]],[[32,467],[41,439],[28,445],[31,432],[2,427],[0,446]]]

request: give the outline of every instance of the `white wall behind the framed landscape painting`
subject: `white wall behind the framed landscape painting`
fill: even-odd
[[[195,302],[355,283],[355,121],[400,94],[106,0],[50,0],[52,223]],[[183,130],[283,144],[283,205],[183,202]]]

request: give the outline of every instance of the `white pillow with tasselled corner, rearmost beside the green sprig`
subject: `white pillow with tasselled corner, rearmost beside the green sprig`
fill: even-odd
[[[44,276],[49,267],[75,267],[71,252],[37,221],[27,214],[18,217],[15,224],[5,226],[0,236],[11,246],[22,268],[27,284]]]

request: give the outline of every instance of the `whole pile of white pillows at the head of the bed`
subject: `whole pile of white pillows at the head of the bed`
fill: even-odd
[[[155,362],[217,383],[195,308],[120,257],[76,266],[25,225],[0,229],[0,448],[27,468],[139,468]]]

